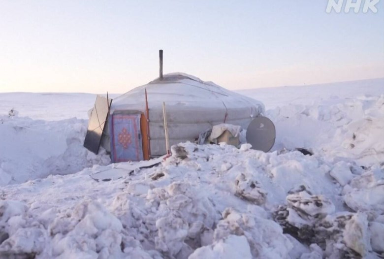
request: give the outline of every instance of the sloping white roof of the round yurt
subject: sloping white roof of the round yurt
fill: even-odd
[[[242,108],[253,107],[262,113],[264,105],[253,98],[226,90],[213,82],[185,73],[170,73],[146,85],[136,87],[112,101],[114,110],[145,110],[145,89],[150,109],[161,108],[165,102],[168,109],[193,108]]]

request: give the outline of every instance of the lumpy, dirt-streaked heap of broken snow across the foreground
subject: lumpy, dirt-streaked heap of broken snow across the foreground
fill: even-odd
[[[125,163],[2,189],[0,256],[375,258],[384,252],[372,238],[382,236],[384,165],[353,170],[343,187],[330,176],[339,165],[298,151],[192,143],[172,151],[159,166],[118,180],[97,182],[89,174]],[[355,210],[373,189],[377,198]]]

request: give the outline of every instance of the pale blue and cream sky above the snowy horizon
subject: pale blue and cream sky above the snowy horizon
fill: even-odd
[[[164,73],[231,90],[384,77],[384,0],[327,2],[0,0],[0,92],[125,93],[159,76],[159,49]]]

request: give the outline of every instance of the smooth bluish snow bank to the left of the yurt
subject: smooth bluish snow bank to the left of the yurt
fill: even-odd
[[[0,116],[0,126],[0,186],[110,163],[104,150],[96,156],[83,148],[86,120]]]

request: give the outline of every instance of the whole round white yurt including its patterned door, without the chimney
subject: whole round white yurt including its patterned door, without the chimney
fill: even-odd
[[[163,102],[170,145],[194,141],[221,123],[247,128],[264,112],[249,97],[184,73],[170,73],[113,99],[101,140],[112,162],[141,161],[166,154]]]

